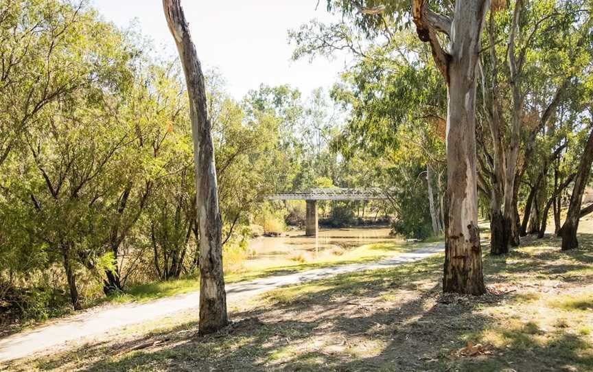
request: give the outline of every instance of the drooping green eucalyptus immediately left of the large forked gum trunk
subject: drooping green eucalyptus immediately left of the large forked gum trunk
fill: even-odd
[[[445,90],[430,65],[430,52],[415,36],[410,32],[393,36],[398,43],[365,50],[367,57],[343,73],[342,82],[334,87],[334,100],[350,115],[336,147],[347,158],[366,152],[381,159],[370,161],[369,167],[386,177],[367,176],[367,183],[382,179],[378,184],[393,194],[399,233],[413,231],[411,237],[424,237],[428,219],[432,233],[438,235],[444,228]],[[399,54],[401,49],[407,53]],[[426,188],[420,187],[419,179],[426,179]],[[397,188],[402,193],[393,193]],[[418,226],[412,226],[415,222]]]

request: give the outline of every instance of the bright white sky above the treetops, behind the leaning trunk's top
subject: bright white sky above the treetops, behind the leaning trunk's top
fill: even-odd
[[[92,0],[108,21],[120,27],[136,22],[142,34],[162,47],[166,56],[176,56],[161,0]],[[216,67],[224,76],[229,93],[240,100],[259,84],[290,84],[309,95],[319,86],[329,88],[345,67],[345,57],[335,60],[290,59],[288,29],[317,18],[332,20],[325,0],[182,0],[198,57],[205,68]]]

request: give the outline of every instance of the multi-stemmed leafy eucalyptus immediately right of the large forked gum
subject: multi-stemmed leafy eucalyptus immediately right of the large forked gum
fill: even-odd
[[[509,244],[519,244],[529,216],[534,216],[533,201],[543,198],[537,191],[548,166],[561,154],[561,143],[547,141],[553,147],[539,154],[547,160],[541,162],[542,172],[531,187],[520,224],[518,191],[528,166],[537,163],[538,138],[556,136],[555,130],[546,129],[557,125],[557,109],[572,99],[569,86],[590,59],[583,48],[589,27],[588,16],[582,15],[583,1],[516,1],[508,11],[499,5],[489,14],[488,53],[482,54],[480,69],[483,126],[489,130],[489,141],[482,141],[485,160],[480,165],[490,181],[485,189],[493,254],[507,253]],[[539,229],[539,220],[535,225]]]

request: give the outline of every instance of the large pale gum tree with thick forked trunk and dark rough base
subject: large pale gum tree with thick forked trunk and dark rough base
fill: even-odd
[[[430,43],[434,62],[447,83],[447,240],[443,291],[485,292],[478,230],[476,174],[476,65],[489,0],[458,0],[453,17],[432,12],[414,0],[412,16],[420,40]],[[437,32],[450,39],[445,51]]]

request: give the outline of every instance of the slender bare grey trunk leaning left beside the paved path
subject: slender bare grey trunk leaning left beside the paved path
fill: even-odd
[[[191,41],[180,0],[163,0],[165,18],[175,39],[189,95],[189,116],[194,139],[194,165],[198,225],[200,231],[200,325],[201,334],[216,332],[229,323],[222,272],[222,221],[211,124],[206,106],[202,67]]]

